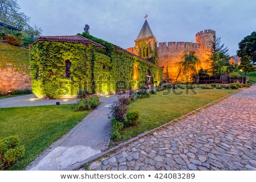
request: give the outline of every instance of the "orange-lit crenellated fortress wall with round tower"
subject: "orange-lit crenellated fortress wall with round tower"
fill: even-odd
[[[184,51],[195,54],[201,61],[198,69],[209,69],[208,61],[212,42],[215,38],[215,31],[204,30],[197,32],[196,43],[191,42],[162,42],[158,46],[158,66],[163,68],[163,78],[170,80],[182,80],[182,76],[177,78],[179,63]]]

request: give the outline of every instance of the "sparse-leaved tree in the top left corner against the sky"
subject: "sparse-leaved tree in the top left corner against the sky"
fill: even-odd
[[[30,17],[19,12],[20,7],[16,0],[0,0],[0,22],[22,29],[25,36],[40,36],[42,29],[31,27]]]

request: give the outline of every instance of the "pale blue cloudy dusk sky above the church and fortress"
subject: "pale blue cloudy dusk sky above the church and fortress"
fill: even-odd
[[[17,0],[20,12],[43,36],[90,35],[122,48],[134,47],[147,22],[161,42],[193,42],[197,32],[211,29],[236,55],[238,43],[256,31],[254,0]]]

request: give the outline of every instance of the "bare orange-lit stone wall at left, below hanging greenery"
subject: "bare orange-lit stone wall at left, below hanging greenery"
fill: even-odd
[[[12,68],[0,69],[0,94],[8,90],[31,89],[29,73],[15,72]]]

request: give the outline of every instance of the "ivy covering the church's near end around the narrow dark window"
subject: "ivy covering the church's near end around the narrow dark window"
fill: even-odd
[[[71,78],[65,77],[66,60],[70,60],[72,64]],[[82,43],[36,43],[30,48],[32,92],[43,98],[75,95],[87,85],[85,65],[85,49]]]

